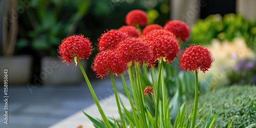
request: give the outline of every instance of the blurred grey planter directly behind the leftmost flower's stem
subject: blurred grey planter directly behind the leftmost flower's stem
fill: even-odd
[[[83,67],[86,60],[81,60]],[[60,84],[77,84],[84,81],[79,65],[74,60],[67,66],[57,57],[44,57],[41,59],[41,72],[39,74],[43,84],[57,86]]]

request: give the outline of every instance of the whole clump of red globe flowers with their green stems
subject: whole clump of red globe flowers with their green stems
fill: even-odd
[[[185,23],[178,20],[169,21],[164,27],[156,24],[146,26],[147,15],[141,10],[129,12],[125,17],[125,22],[127,26],[122,26],[118,30],[113,29],[106,31],[98,38],[98,44],[96,46],[99,53],[96,54],[91,66],[97,78],[103,79],[106,74],[111,75],[113,91],[121,120],[112,124],[116,126],[121,124],[119,125],[120,127],[158,127],[159,125],[175,127],[172,126],[169,121],[160,121],[170,119],[168,106],[169,97],[165,95],[165,92],[167,92],[165,88],[167,88],[167,86],[164,83],[164,69],[166,70],[167,68],[164,67],[165,65],[163,65],[163,63],[172,63],[178,56],[180,52],[178,39],[185,41],[188,38],[189,28]],[[141,32],[139,27],[144,26],[146,27],[143,29],[143,32]],[[69,65],[72,58],[75,58],[78,62],[80,62],[80,59],[88,58],[92,54],[92,50],[89,38],[84,38],[83,35],[74,35],[62,40],[58,52],[60,54],[59,58],[62,59],[62,61],[67,61]],[[208,49],[202,46],[190,45],[189,48],[185,49],[184,53],[180,55],[180,68],[183,68],[186,72],[188,70],[192,72],[198,71],[199,69],[205,72],[212,66],[213,61],[214,59]],[[154,67],[157,62],[159,62],[159,65],[157,69],[158,72],[156,73]],[[95,122],[100,125],[102,124],[103,127],[112,127],[108,118],[104,115],[91,83],[80,63],[79,66],[103,120],[102,122]],[[150,79],[147,78],[148,71],[146,67],[151,68],[152,83],[149,82]],[[126,70],[128,70],[130,76],[133,100],[123,77],[123,72]],[[132,114],[129,112],[129,116],[122,114],[123,112],[119,102],[121,100],[117,94],[113,77],[114,74],[117,76],[120,75],[122,78],[125,93],[127,94],[132,108]],[[157,76],[157,78],[154,78],[155,76]],[[197,74],[196,79],[198,79]],[[152,87],[146,85],[147,87],[145,88],[145,83],[151,84]],[[144,89],[144,91],[142,89]],[[193,119],[191,127],[195,126],[197,114],[197,90],[198,83],[196,83],[195,111],[193,118],[191,117],[191,119]],[[144,98],[147,94],[151,94],[152,97]],[[152,102],[153,105],[155,105],[153,106],[153,108],[155,108],[154,118],[148,107],[145,107],[145,100],[150,98],[153,98]],[[160,114],[159,108],[162,108]],[[124,108],[123,110],[126,109]],[[151,119],[154,120],[153,123],[148,123],[148,119],[145,117],[151,117]],[[130,123],[129,126],[127,122]]]

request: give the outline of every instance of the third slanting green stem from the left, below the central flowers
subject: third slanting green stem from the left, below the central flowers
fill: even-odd
[[[132,107],[133,117],[134,117],[134,119],[135,119],[136,126],[137,126],[137,127],[140,127],[140,125],[139,125],[140,122],[139,122],[138,117],[137,117],[137,115],[136,115],[136,110],[135,110],[135,108],[134,108],[134,104],[133,104],[133,101],[132,101],[132,97],[131,97],[130,92],[129,92],[128,88],[127,88],[127,85],[126,85],[125,79],[124,79],[124,77],[123,77],[123,74],[121,74],[120,76],[121,76],[121,79],[122,79],[122,82],[123,82],[124,90],[125,90],[125,92],[126,92],[126,95],[127,95],[128,99],[129,99],[129,102],[130,102],[130,105],[131,105],[131,107]]]

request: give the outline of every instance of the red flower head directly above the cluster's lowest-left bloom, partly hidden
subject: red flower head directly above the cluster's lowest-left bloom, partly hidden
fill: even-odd
[[[107,49],[115,48],[115,45],[117,45],[119,41],[127,37],[129,37],[129,35],[126,32],[121,32],[119,30],[107,31],[98,39],[98,50],[104,51]]]

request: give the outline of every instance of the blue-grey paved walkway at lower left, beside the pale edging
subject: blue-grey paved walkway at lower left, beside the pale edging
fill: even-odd
[[[91,83],[99,100],[113,94],[109,78],[97,79]],[[120,79],[117,79],[116,84],[120,83]],[[0,91],[4,92],[2,88]],[[75,113],[82,113],[82,109],[94,104],[86,82],[70,86],[47,85],[33,89],[31,93],[25,86],[9,86],[8,92],[8,124],[3,120],[3,95],[0,97],[1,128],[49,127]]]

